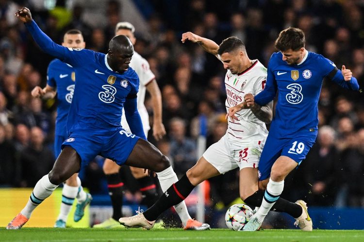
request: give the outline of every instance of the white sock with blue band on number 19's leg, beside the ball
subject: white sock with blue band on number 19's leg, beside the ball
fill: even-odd
[[[269,179],[269,182],[266,186],[262,205],[256,213],[259,222],[263,222],[265,216],[268,214],[276,201],[280,198],[283,192],[283,188],[284,181],[272,181],[271,179]]]

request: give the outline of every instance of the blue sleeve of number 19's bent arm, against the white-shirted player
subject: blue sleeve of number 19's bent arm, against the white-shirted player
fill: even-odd
[[[254,102],[259,104],[260,106],[265,106],[266,104],[271,102],[276,97],[277,81],[276,81],[276,78],[275,78],[275,76],[272,72],[272,68],[271,68],[272,58],[273,58],[273,56],[271,57],[269,64],[268,64],[265,88],[262,92],[258,93],[258,95],[256,95],[254,97]]]

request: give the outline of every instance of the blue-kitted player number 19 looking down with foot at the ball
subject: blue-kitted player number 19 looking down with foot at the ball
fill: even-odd
[[[255,231],[269,210],[279,199],[285,177],[305,159],[317,136],[318,108],[322,80],[327,77],[348,90],[359,90],[358,81],[350,70],[335,64],[314,52],[305,49],[302,30],[282,30],[276,42],[279,52],[273,53],[268,63],[268,74],[264,91],[255,97],[248,93],[243,103],[231,107],[229,116],[253,105],[264,106],[276,97],[276,115],[270,126],[259,163],[260,188],[266,189],[262,205],[243,228]],[[304,201],[296,203],[303,208],[296,223],[303,230],[312,230],[312,220]]]

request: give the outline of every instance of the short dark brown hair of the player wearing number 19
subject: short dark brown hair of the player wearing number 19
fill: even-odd
[[[305,47],[306,39],[305,33],[298,28],[287,28],[280,32],[275,46],[280,51],[286,51],[289,49],[298,50]]]

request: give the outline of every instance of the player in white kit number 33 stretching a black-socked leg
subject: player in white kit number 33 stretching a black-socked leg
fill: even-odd
[[[258,94],[265,87],[266,68],[258,60],[250,60],[244,43],[236,38],[225,39],[221,45],[202,38],[192,32],[182,34],[182,42],[189,40],[198,43],[207,52],[215,55],[227,69],[225,76],[226,108],[244,100],[245,93]],[[252,106],[237,115],[238,120],[229,120],[228,130],[218,142],[210,146],[199,158],[195,166],[174,183],[161,198],[147,211],[121,218],[119,222],[129,227],[145,227],[174,204],[181,202],[200,182],[211,177],[224,174],[234,168],[240,168],[240,197],[250,206],[259,206],[263,191],[258,191],[258,164],[260,154],[268,135],[265,123],[272,120],[272,105]],[[287,212],[294,217],[302,213],[302,208],[279,199],[273,208],[279,212]]]

